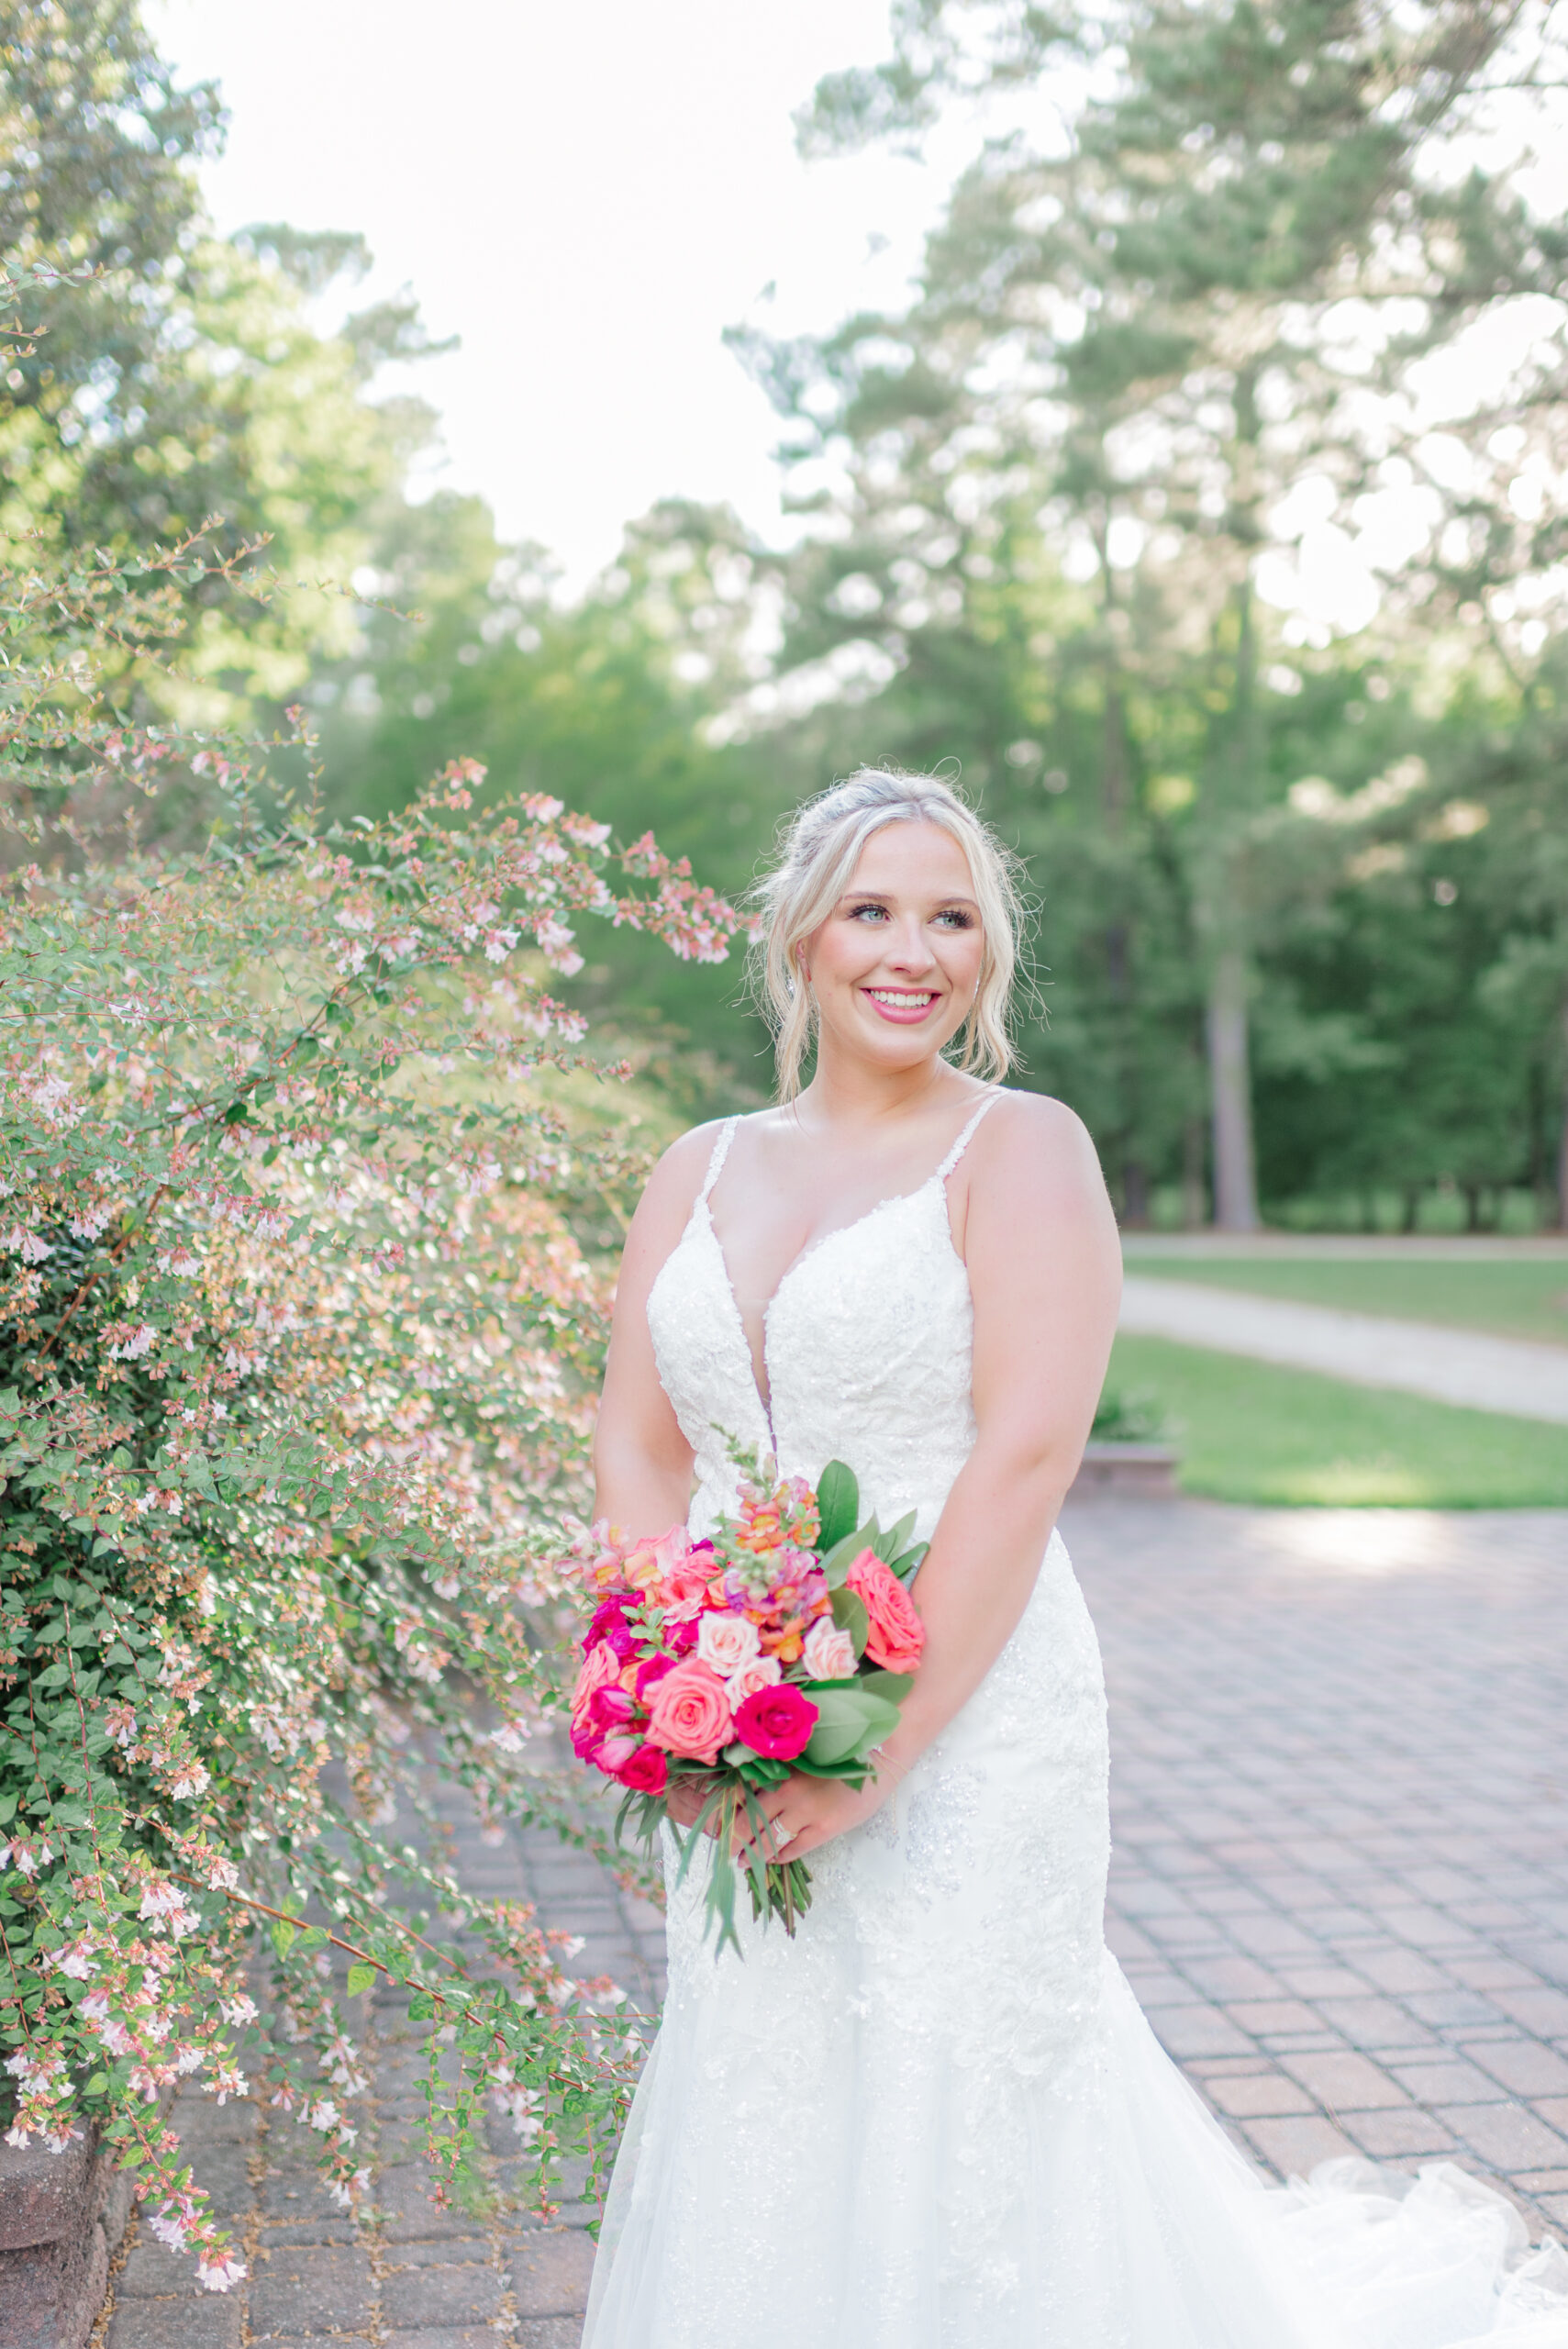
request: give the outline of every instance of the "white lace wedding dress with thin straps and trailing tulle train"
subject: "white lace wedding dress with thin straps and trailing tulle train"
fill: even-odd
[[[991,1097],[995,1099],[995,1095]],[[721,1428],[930,1536],[974,1442],[946,1177],[829,1233],[768,1308],[772,1409],[709,1217],[735,1120],[648,1299],[697,1454]],[[1275,2187],[1103,1943],[1106,1689],[1059,1534],[993,1670],[789,1940],[669,1903],[669,2004],[620,2152],[584,2349],[1568,2349],[1568,2257],[1451,2166]],[[746,1903],[742,1900],[742,1910]]]

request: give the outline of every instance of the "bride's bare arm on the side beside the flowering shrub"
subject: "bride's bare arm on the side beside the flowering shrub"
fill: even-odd
[[[695,1128],[648,1177],[615,1283],[610,1358],[594,1433],[594,1515],[622,1534],[667,1534],[685,1525],[692,1496],[692,1447],[681,1435],[660,1386],[648,1332],[648,1290],[676,1247],[702,1184],[714,1128]]]

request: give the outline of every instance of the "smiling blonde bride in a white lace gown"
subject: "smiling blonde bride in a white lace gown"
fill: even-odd
[[[671,1889],[584,2349],[1568,2349],[1568,2260],[1460,2170],[1268,2185],[1103,1945],[1106,1691],[1054,1527],[1120,1247],[1073,1111],[995,1083],[1005,853],[866,770],[798,810],[763,914],[779,1106],[648,1184],[599,1510],[704,1532],[725,1435],[845,1459],[883,1525],[918,1510],[927,1644],[864,1792],[768,1802],[812,1865],[793,1940],[716,1957],[699,1870]]]

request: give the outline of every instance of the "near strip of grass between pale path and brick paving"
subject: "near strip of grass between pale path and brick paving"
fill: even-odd
[[[1537,1419],[1460,1412],[1162,1337],[1117,1337],[1106,1386],[1157,1402],[1183,1492],[1216,1501],[1568,1506],[1568,1428]]]

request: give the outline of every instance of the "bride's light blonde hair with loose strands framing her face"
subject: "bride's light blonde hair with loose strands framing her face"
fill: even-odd
[[[1016,857],[979,820],[958,792],[937,775],[899,775],[861,766],[803,801],[779,834],[772,871],[753,890],[761,911],[753,975],[763,1015],[772,1027],[779,1099],[800,1090],[800,1062],[817,1024],[817,1005],[800,977],[800,944],[826,921],[843,897],[861,850],[883,824],[939,824],[958,841],[974,883],[981,916],[981,975],[960,1029],[960,1069],[1002,1078],[1014,1062],[1007,1036],[1012,982],[1019,965],[1023,902]]]

